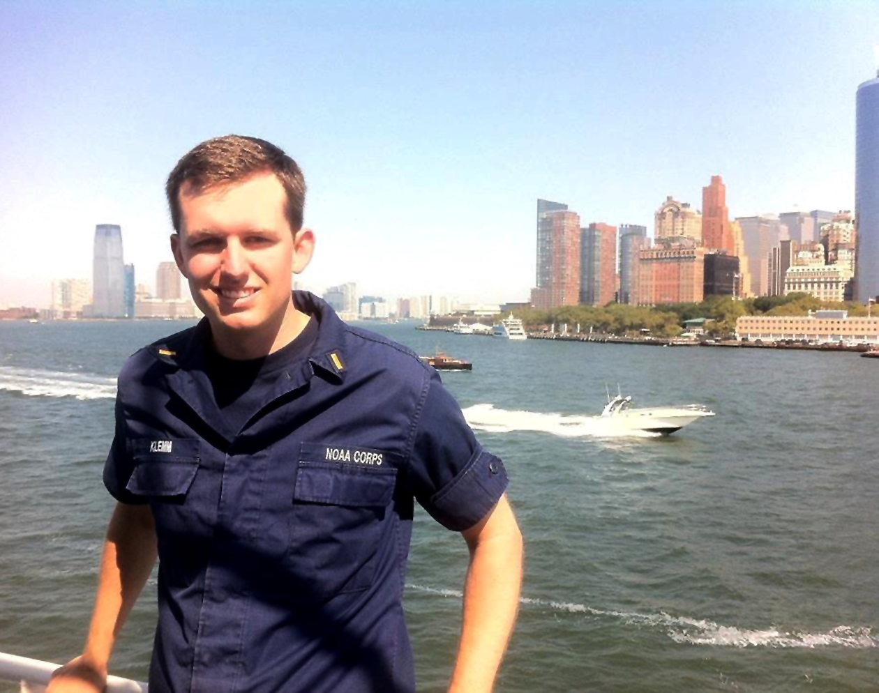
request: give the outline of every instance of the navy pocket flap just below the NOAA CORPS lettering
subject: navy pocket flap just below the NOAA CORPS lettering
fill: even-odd
[[[301,460],[294,501],[385,507],[394,494],[396,469]]]

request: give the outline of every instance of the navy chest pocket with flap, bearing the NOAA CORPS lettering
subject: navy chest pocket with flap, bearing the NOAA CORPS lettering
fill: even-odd
[[[324,446],[302,444],[293,492],[290,559],[312,594],[321,597],[369,588],[389,523],[396,468],[388,463],[326,461]],[[345,448],[353,460],[385,453]],[[374,457],[370,457],[374,456]],[[385,456],[386,457],[386,456]]]

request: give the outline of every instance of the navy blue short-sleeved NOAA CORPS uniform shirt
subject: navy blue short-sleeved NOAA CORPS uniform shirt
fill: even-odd
[[[414,690],[413,499],[462,531],[506,487],[432,368],[307,292],[294,302],[316,340],[241,430],[205,373],[207,321],[120,373],[104,480],[156,520],[151,693]]]

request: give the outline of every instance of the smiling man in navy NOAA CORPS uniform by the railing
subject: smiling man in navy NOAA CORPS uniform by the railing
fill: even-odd
[[[284,152],[203,142],[167,193],[171,249],[206,317],[120,373],[105,466],[118,504],[84,653],[50,693],[102,689],[156,555],[151,693],[414,690],[413,498],[469,546],[449,689],[489,691],[521,571],[501,461],[416,355],[291,292],[315,236]]]

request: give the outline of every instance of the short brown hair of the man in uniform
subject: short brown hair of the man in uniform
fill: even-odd
[[[171,171],[165,194],[171,223],[180,233],[180,189],[188,184],[198,193],[217,184],[237,183],[257,173],[273,173],[287,192],[287,220],[295,233],[302,227],[305,177],[293,159],[271,142],[227,134],[207,140],[187,152]]]

